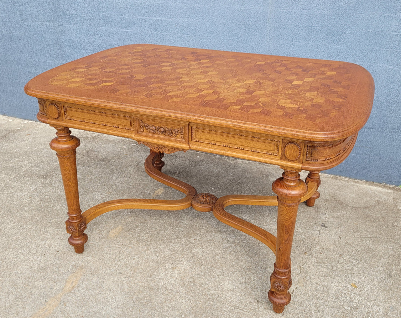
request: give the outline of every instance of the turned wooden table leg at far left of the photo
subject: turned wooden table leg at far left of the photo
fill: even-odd
[[[88,236],[83,232],[86,229],[86,220],[81,216],[78,196],[77,162],[75,149],[79,146],[79,139],[71,136],[67,127],[55,127],[57,137],[50,142],[50,148],[57,152],[59,158],[61,177],[68,207],[68,220],[65,221],[69,244],[74,246],[76,253],[82,253]]]

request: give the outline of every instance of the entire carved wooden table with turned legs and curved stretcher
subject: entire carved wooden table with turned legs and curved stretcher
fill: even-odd
[[[75,252],[84,250],[87,223],[111,210],[213,210],[218,220],[275,253],[268,296],[273,310],[282,312],[291,299],[298,205],[313,206],[320,171],[351,152],[371,112],[374,82],[363,67],[346,62],[135,44],[53,68],[24,90],[38,98],[38,120],[57,130],[50,147],[59,158]],[[71,127],[148,146],[146,172],[185,198],[112,200],[81,213],[80,142]],[[279,165],[284,173],[272,186],[277,196],[216,198],[161,172],[164,154],[188,149]],[[309,171],[306,182],[301,170]],[[225,211],[232,204],[277,205],[277,237]]]

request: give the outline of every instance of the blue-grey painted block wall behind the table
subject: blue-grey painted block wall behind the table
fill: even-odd
[[[0,114],[35,119],[23,92],[37,74],[132,43],[360,64],[373,111],[329,173],[401,184],[401,4],[394,0],[0,0]]]

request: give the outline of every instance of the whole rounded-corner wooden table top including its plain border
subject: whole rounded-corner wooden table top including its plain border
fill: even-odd
[[[133,44],[53,68],[30,80],[26,92],[327,140],[365,124],[374,83],[347,62]]]

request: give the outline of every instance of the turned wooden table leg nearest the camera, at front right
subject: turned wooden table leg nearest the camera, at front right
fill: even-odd
[[[273,274],[270,276],[269,300],[273,303],[273,310],[280,313],[291,300],[288,289],[292,284],[292,238],[300,198],[306,194],[308,187],[300,179],[298,171],[285,169],[282,178],[273,182],[272,189],[277,194],[278,213],[276,258]]]

